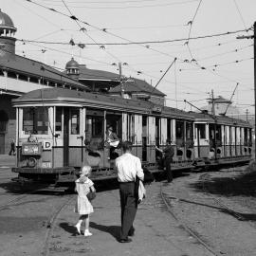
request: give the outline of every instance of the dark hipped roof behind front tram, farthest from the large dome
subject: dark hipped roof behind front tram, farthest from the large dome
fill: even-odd
[[[156,96],[164,97],[166,96],[164,93],[160,92],[159,90],[154,89],[154,87],[146,81],[139,80],[136,78],[129,78],[129,81],[123,83],[124,92],[128,93],[147,93]],[[119,93],[120,92],[120,85],[111,88],[109,93]]]

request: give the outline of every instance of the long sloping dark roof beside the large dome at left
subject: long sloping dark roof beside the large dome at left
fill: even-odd
[[[48,79],[52,82],[64,82],[68,85],[75,85],[80,88],[86,88],[81,82],[70,79],[63,72],[53,67],[27,59],[19,55],[7,55],[0,58],[0,67],[7,68],[16,72],[24,73],[27,76],[38,76]]]

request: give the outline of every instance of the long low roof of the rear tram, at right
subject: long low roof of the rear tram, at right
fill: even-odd
[[[216,120],[217,124],[227,124],[227,125],[241,125],[241,126],[247,126],[251,127],[249,122],[243,119],[233,119],[228,116],[215,116],[215,119],[213,115],[205,114],[205,113],[195,113],[191,112],[194,116],[195,121],[209,121],[214,123]]]

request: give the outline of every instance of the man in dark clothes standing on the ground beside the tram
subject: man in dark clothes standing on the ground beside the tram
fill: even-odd
[[[174,157],[174,147],[171,144],[171,140],[166,140],[166,146],[163,150],[157,148],[155,146],[155,149],[164,155],[164,166],[165,166],[165,173],[167,177],[167,182],[171,183],[173,181],[173,173],[171,168],[171,163],[173,162]]]

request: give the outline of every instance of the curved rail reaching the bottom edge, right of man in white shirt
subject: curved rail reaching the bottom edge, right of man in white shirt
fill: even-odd
[[[163,192],[162,184],[160,185],[160,197],[168,210],[168,212],[172,215],[172,217],[176,220],[179,226],[188,232],[201,246],[205,247],[205,249],[210,253],[212,256],[220,256],[221,254],[215,251],[210,245],[203,241],[203,239],[199,236],[199,234],[186,225],[181,219],[175,214],[174,210],[172,209],[172,205],[170,204],[166,194]]]

